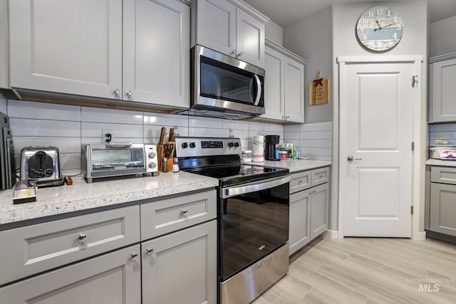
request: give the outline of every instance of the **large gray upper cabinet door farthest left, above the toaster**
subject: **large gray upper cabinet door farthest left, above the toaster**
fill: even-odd
[[[12,88],[114,98],[122,1],[9,1]]]

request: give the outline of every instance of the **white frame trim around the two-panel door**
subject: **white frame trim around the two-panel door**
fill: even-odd
[[[340,88],[346,85],[346,79],[341,79],[338,76],[343,74],[347,63],[413,63],[413,75],[418,76],[418,80],[415,83],[415,89],[413,90],[413,142],[415,142],[415,150],[413,152],[413,167],[412,167],[412,206],[413,206],[413,218],[411,229],[411,239],[415,241],[425,240],[426,232],[424,231],[424,198],[425,198],[425,132],[426,132],[426,103],[421,100],[421,90],[423,89],[422,81],[422,61],[423,56],[340,56],[337,58],[338,69],[334,75],[337,82],[334,81],[334,91],[337,93],[337,98],[334,98],[337,102],[333,106],[333,174],[332,174],[332,187],[331,193],[331,205],[338,206],[338,239],[343,239],[343,219],[345,204],[339,200],[339,114],[340,114],[340,103],[341,95]],[[412,79],[410,78],[410,85]],[[424,87],[425,88],[425,87]],[[336,91],[337,90],[337,91]]]

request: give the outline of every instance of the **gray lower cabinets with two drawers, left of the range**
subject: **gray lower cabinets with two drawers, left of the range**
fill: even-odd
[[[217,303],[211,189],[0,231],[0,303]]]

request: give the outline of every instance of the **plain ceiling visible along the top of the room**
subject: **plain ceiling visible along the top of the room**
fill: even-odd
[[[381,2],[379,0],[244,0],[279,26],[298,21],[321,11],[331,4]],[[418,0],[390,0],[418,1]],[[439,21],[456,15],[456,0],[427,0],[430,21]]]

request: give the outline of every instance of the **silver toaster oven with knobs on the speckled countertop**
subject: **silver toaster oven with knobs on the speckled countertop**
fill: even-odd
[[[83,177],[88,183],[102,177],[158,172],[155,144],[84,144],[81,157]]]

